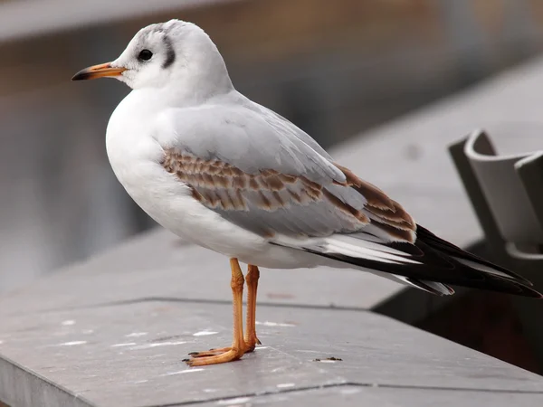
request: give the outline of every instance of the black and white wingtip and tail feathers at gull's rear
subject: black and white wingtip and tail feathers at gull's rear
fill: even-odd
[[[448,286],[451,284],[543,298],[530,288],[529,280],[443,241],[422,226],[417,227],[416,235],[414,243],[384,241],[361,232],[310,239],[299,244],[274,244],[309,251],[357,268],[389,273],[405,284],[433,294],[451,295],[454,292]]]

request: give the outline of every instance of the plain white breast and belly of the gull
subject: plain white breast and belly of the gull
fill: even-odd
[[[113,172],[132,199],[171,232],[211,250],[238,258],[267,251],[270,245],[262,237],[205,208],[192,197],[187,185],[160,165],[164,151],[153,137],[156,113],[138,99],[133,91],[121,101],[106,134]]]

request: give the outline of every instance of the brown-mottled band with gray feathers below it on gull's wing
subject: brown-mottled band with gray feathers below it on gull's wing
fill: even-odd
[[[333,194],[332,182],[320,185],[268,168],[249,174],[174,148],[165,150],[162,165],[189,185],[201,204],[263,236],[328,236],[357,232],[369,222],[367,213]]]

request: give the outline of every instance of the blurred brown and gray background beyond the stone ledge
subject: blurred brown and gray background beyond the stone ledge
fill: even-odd
[[[202,26],[238,90],[325,147],[543,46],[539,0],[0,0],[0,292],[152,226],[105,153],[129,90],[70,79],[170,18]]]

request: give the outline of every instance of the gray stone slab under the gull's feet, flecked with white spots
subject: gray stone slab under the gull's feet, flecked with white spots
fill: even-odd
[[[263,345],[256,353],[233,364],[186,367],[188,352],[229,344],[231,318],[229,306],[193,301],[28,313],[3,319],[0,355],[32,372],[17,385],[37,375],[99,406],[169,405],[344,383],[543,394],[537,374],[367,311],[259,306]],[[332,356],[342,361],[325,360]],[[0,388],[0,399],[7,392]]]

